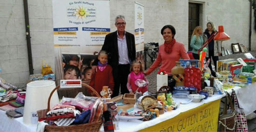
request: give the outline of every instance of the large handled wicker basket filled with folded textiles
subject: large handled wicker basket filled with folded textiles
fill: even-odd
[[[60,104],[50,109],[51,97],[60,86],[54,88],[48,98],[47,110],[38,111],[39,124],[43,121],[48,123],[44,132],[100,132],[103,102],[91,86],[84,83],[82,86],[97,97],[88,97],[79,92],[75,98],[63,97]]]

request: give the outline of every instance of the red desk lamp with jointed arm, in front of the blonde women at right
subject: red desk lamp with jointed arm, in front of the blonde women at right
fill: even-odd
[[[221,47],[222,47],[222,41],[229,40],[230,37],[227,33],[224,33],[223,26],[219,26],[219,32],[214,32],[213,35],[210,36],[208,40],[206,40],[202,47],[198,50],[198,55],[200,55],[200,52],[202,49],[209,44],[209,42],[214,38],[214,40],[221,41]]]

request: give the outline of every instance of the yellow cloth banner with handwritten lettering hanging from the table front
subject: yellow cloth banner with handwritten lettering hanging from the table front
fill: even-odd
[[[217,132],[220,100],[182,112],[139,132]]]

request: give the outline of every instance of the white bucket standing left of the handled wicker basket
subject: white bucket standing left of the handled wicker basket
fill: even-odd
[[[37,125],[38,110],[47,109],[47,102],[50,93],[55,88],[55,82],[50,80],[33,81],[27,84],[27,92],[23,113],[23,122],[27,125]],[[54,92],[50,108],[59,104],[59,97],[57,91]]]

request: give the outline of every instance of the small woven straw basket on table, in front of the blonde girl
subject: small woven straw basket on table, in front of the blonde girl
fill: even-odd
[[[158,106],[157,99],[149,95],[144,96],[141,99],[141,106],[145,111],[151,108],[155,108],[156,106]]]

